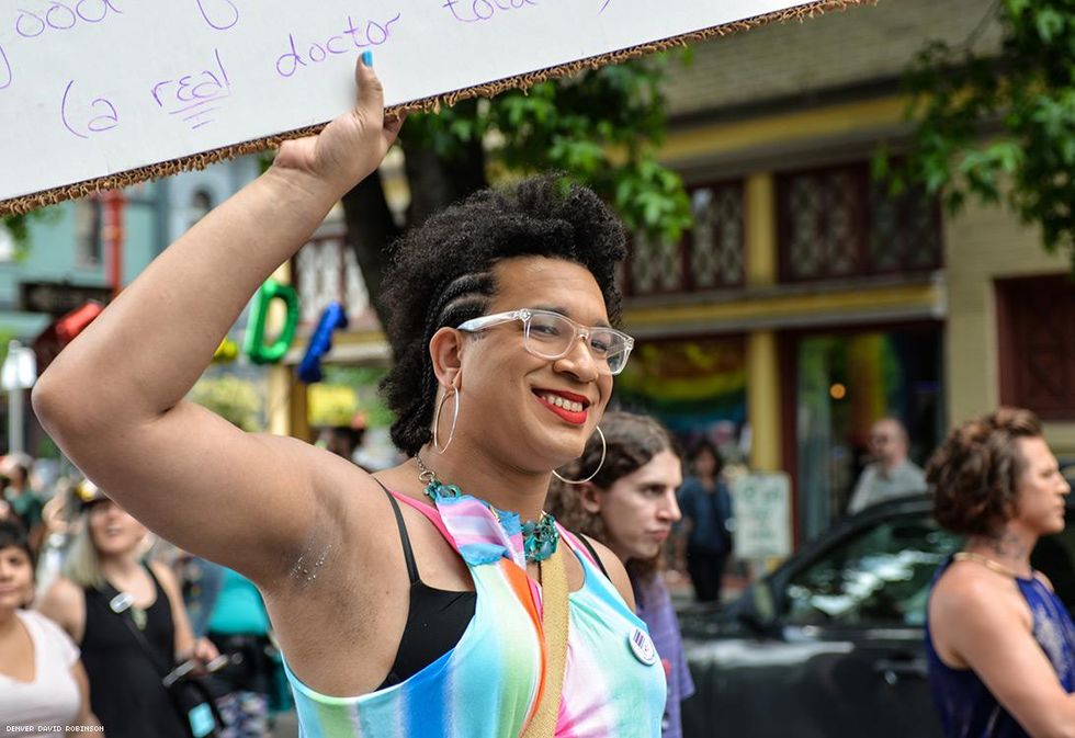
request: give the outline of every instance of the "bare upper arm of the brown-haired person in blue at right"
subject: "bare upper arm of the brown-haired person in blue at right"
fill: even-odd
[[[938,588],[930,603],[932,627],[949,649],[1032,738],[1075,737],[1075,694],[1064,691],[1031,635],[1029,613],[981,579],[952,584]]]

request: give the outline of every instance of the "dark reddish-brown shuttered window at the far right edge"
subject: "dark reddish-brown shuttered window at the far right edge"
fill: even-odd
[[[1075,283],[1002,280],[996,295],[1000,402],[1075,420]]]

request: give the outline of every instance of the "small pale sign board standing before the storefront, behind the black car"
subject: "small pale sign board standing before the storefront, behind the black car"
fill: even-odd
[[[732,482],[735,556],[791,555],[791,479],[787,474],[746,474]]]

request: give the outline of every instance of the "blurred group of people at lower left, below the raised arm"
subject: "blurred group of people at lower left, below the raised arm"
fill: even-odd
[[[32,479],[33,459],[18,462]],[[22,514],[12,506],[0,515],[5,735],[64,726],[113,737],[269,735],[270,699],[279,709],[286,695],[253,584],[156,540],[88,479],[61,478],[49,491],[34,487]],[[166,685],[185,671],[212,704],[208,733]]]

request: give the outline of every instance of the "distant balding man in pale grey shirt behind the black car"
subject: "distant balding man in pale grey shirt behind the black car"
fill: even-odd
[[[896,418],[882,418],[870,429],[872,461],[862,469],[847,506],[848,514],[901,495],[926,491],[921,467],[907,458],[907,429]]]

